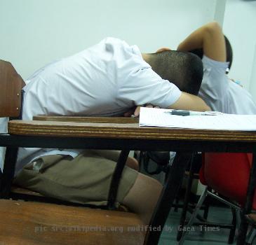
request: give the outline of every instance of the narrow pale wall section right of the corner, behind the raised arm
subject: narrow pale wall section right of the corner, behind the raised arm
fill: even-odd
[[[234,57],[229,76],[240,80],[256,97],[256,1],[227,0],[223,30],[231,41]],[[252,80],[253,79],[253,80]],[[256,101],[256,99],[255,99]]]

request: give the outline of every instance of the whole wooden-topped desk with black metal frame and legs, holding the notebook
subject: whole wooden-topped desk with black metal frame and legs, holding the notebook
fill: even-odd
[[[1,146],[40,148],[93,148],[138,151],[245,152],[253,153],[250,176],[256,176],[256,132],[224,130],[187,130],[161,127],[139,127],[137,118],[72,118],[47,117],[34,121],[13,120],[8,123],[9,134],[2,134]],[[69,119],[68,119],[69,118]],[[37,120],[41,121],[37,121]],[[43,120],[42,120],[43,119]],[[55,120],[49,121],[49,120]],[[63,122],[66,120],[66,122]],[[186,155],[185,155],[186,158]],[[151,219],[151,226],[163,228],[182,181],[186,162],[173,162],[161,194],[161,202]],[[245,214],[252,207],[255,178],[250,177]],[[237,244],[243,245],[247,223],[242,218]],[[157,244],[161,231],[147,232],[145,244]]]

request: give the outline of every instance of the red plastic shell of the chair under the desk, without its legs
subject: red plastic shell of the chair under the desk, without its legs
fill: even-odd
[[[200,181],[243,207],[251,165],[252,154],[206,153],[199,173]],[[256,209],[256,196],[252,207]]]

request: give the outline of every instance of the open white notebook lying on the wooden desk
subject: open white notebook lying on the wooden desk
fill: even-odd
[[[172,127],[197,130],[243,130],[256,131],[256,115],[225,113],[191,113],[191,116],[173,115],[172,110],[140,109],[140,126]]]

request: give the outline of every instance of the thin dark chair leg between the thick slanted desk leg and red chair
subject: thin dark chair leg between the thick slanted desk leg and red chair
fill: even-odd
[[[184,227],[185,223],[186,223],[186,216],[187,216],[187,208],[189,206],[189,197],[190,197],[190,193],[191,193],[191,186],[192,186],[192,182],[193,182],[193,178],[194,177],[194,167],[193,167],[193,158],[191,159],[190,162],[190,167],[189,167],[189,179],[188,179],[188,183],[187,183],[187,188],[186,188],[186,192],[185,192],[185,196],[184,196],[184,204],[183,204],[183,208],[182,208],[182,214],[180,216],[180,229],[178,229],[177,231],[177,241],[180,240],[180,238],[182,237],[182,228]]]

